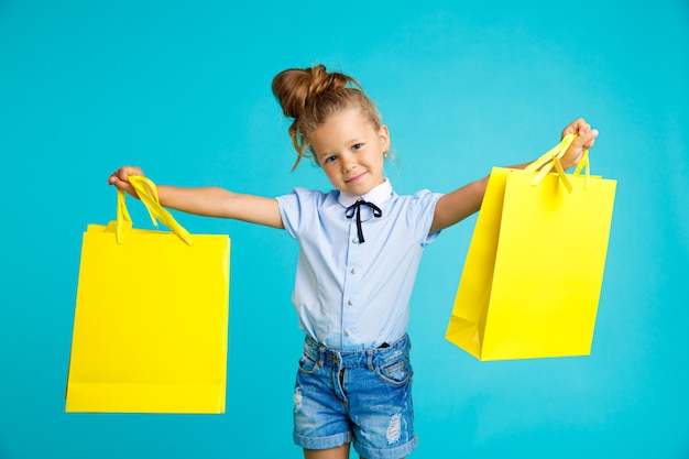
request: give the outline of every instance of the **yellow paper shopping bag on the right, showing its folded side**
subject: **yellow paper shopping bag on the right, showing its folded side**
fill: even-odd
[[[446,332],[480,360],[591,352],[616,182],[589,175],[588,152],[565,174],[575,136],[491,172]]]

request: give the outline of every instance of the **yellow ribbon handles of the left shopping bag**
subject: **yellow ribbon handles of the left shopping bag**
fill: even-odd
[[[143,203],[146,210],[149,211],[149,216],[151,216],[151,221],[153,225],[157,227],[157,221],[160,220],[163,225],[171,229],[171,231],[176,234],[179,239],[186,242],[188,245],[193,245],[192,236],[189,232],[184,229],[182,225],[175,220],[175,218],[161,206],[161,201],[157,195],[157,187],[155,184],[146,177],[141,175],[130,175],[128,177],[129,183],[139,195],[139,199]],[[123,228],[130,227],[132,225],[132,219],[129,215],[129,210],[127,210],[127,205],[124,203],[124,192],[122,189],[118,189],[118,206],[117,206],[117,225],[114,230],[114,238],[119,244],[122,243],[122,231]]]

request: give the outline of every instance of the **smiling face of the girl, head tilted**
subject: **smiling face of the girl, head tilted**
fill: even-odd
[[[387,127],[375,130],[356,109],[331,116],[311,139],[311,152],[332,186],[358,196],[385,181],[383,162],[389,147]]]

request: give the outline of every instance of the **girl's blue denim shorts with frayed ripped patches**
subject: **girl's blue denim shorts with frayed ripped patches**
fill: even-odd
[[[294,390],[294,441],[304,449],[352,442],[367,459],[400,459],[414,435],[411,342],[336,351],[307,337]]]

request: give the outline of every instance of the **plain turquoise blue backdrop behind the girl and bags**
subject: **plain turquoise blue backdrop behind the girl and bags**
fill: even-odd
[[[302,457],[283,231],[177,214],[232,238],[227,414],[65,414],[64,393],[81,233],[114,217],[108,175],[327,188],[308,163],[289,173],[270,90],[315,63],[376,100],[398,193],[535,159],[577,117],[601,131],[593,173],[619,181],[590,357],[486,363],[445,341],[475,217],[427,250],[413,457],[688,458],[686,0],[0,1],[0,458]],[[576,254],[577,241],[554,250]]]

